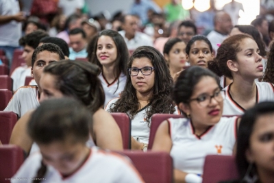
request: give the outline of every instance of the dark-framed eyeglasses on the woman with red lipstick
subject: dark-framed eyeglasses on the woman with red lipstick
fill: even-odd
[[[214,92],[214,94],[211,96],[205,94],[205,95],[200,95],[199,97],[197,97],[195,99],[189,99],[189,102],[197,101],[200,106],[206,107],[206,106],[208,106],[208,104],[211,103],[212,98],[214,98],[218,102],[223,101],[223,96],[221,95],[221,90]]]

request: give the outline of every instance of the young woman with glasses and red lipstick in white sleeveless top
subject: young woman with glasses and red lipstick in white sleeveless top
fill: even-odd
[[[232,155],[238,119],[222,117],[219,77],[200,66],[182,71],[173,100],[187,118],[164,121],[155,134],[152,150],[171,154],[175,182],[198,183],[208,154]]]

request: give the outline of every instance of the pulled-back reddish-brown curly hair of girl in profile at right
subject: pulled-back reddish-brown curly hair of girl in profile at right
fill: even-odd
[[[241,50],[240,42],[245,38],[253,40],[253,38],[247,34],[238,34],[225,39],[218,49],[216,58],[214,58],[213,62],[210,62],[210,70],[217,75],[225,75],[225,77],[233,79],[232,72],[227,67],[227,60],[237,62],[237,53]]]

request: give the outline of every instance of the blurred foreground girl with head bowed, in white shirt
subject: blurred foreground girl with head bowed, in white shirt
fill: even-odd
[[[25,160],[15,182],[143,182],[123,156],[87,147],[92,113],[73,98],[43,101],[27,124],[40,152]]]

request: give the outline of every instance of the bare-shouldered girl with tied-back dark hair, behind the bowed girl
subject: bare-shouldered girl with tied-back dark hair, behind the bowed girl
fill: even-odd
[[[93,114],[90,135],[95,145],[103,149],[122,150],[122,137],[119,126],[113,117],[103,110],[105,95],[97,77],[99,67],[89,62],[62,60],[49,64],[40,78],[40,101],[51,97],[73,97],[82,101]],[[27,112],[17,121],[10,143],[22,147],[27,154],[37,146],[27,134],[27,121],[32,112]],[[91,146],[92,144],[90,144]]]

